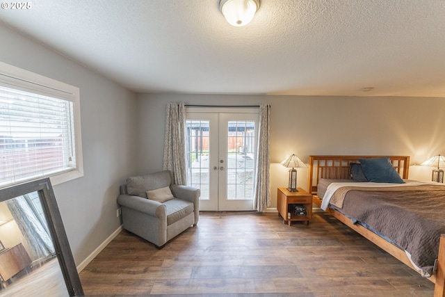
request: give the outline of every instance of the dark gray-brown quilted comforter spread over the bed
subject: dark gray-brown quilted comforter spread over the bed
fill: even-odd
[[[341,211],[409,252],[412,262],[428,277],[437,259],[440,234],[445,233],[444,189],[443,185],[401,191],[357,191],[350,187]]]

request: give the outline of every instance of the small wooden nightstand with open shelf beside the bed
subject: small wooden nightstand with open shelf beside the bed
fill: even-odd
[[[312,194],[307,193],[302,188],[297,188],[298,192],[290,192],[287,188],[278,188],[277,193],[277,210],[278,214],[284,218],[284,223],[287,221],[289,226],[293,221],[302,220],[305,225],[309,224],[312,218]],[[306,209],[306,215],[297,216],[291,211],[291,218],[288,216],[289,204],[301,204]]]

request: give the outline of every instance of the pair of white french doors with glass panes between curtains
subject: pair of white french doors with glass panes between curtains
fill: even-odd
[[[257,109],[187,109],[187,184],[200,188],[200,210],[254,209],[257,126]]]

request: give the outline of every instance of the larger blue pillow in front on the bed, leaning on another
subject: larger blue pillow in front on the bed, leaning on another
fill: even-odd
[[[359,162],[362,164],[363,172],[368,182],[405,183],[387,156],[373,159],[359,159]]]

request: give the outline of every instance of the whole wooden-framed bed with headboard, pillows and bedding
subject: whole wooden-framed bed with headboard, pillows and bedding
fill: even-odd
[[[382,163],[385,160],[389,163],[387,166],[389,167],[387,168],[389,182],[387,181],[387,176],[385,176],[385,179],[380,180],[380,177],[377,176],[380,174],[380,171],[371,170],[374,168],[370,168],[368,165],[372,165],[375,161]],[[396,229],[397,232],[394,232],[394,221],[391,223],[386,222],[386,218],[402,218],[406,216],[407,220],[420,221],[421,223],[417,225],[425,227],[424,225],[430,224],[428,223],[430,218],[428,220],[413,220],[412,218],[419,218],[417,212],[423,211],[424,208],[427,209],[426,201],[436,199],[435,203],[444,204],[445,207],[445,186],[443,184],[410,181],[408,179],[409,166],[409,156],[309,156],[307,188],[314,195],[314,204],[325,209],[332,216],[341,220],[342,223],[362,234],[366,239],[389,252],[389,254],[407,266],[421,273],[428,280],[434,282],[434,296],[445,296],[445,221],[442,224],[443,219],[437,216],[435,219],[431,219],[431,225],[436,227],[435,230],[428,230],[428,232],[424,230],[416,230],[415,232],[407,230],[405,232],[407,237],[405,238],[401,235],[403,232],[400,232],[399,229]],[[366,179],[363,172],[357,171],[357,168],[360,170],[366,169],[369,177],[374,175],[375,179]],[[351,170],[353,170],[354,175],[351,175]],[[365,178],[365,180],[362,180],[362,178]],[[375,186],[378,186],[378,188],[375,188]],[[403,200],[400,197],[398,198],[398,195],[402,195],[402,193]],[[409,198],[410,195],[412,198]],[[425,195],[434,197],[426,199]],[[419,197],[423,199],[419,199]],[[412,201],[415,203],[410,203],[408,199],[414,199]],[[393,205],[391,204],[392,202],[401,202],[405,206]],[[372,214],[372,211],[374,211],[374,214]],[[389,212],[385,213],[384,211]],[[391,211],[401,211],[402,213],[389,215]],[[443,214],[443,211],[441,213]],[[358,219],[354,216],[357,216]],[[373,225],[375,224],[373,216],[378,216],[378,225]],[[386,223],[383,223],[384,219]],[[405,223],[402,222],[401,224],[404,225]],[[442,227],[444,228],[443,230]],[[393,229],[392,234],[391,228]],[[423,243],[420,242],[426,241],[419,235],[417,238],[413,238],[412,234],[416,233],[430,234],[430,236],[426,237],[432,239],[430,241],[433,242],[428,243],[431,244],[429,247],[426,245],[428,252],[421,250],[421,248],[424,248],[423,246],[415,247],[415,249],[419,248],[420,252],[419,250],[412,250],[414,242],[419,242],[419,245],[421,245]],[[400,236],[398,237],[400,238],[394,239],[394,234],[399,234]],[[410,243],[410,247],[407,247],[406,243]],[[407,252],[407,250],[411,252]],[[423,257],[423,254],[428,254],[429,257],[432,257],[432,254],[437,261],[431,264],[431,259],[416,258]],[[417,265],[419,261],[421,262],[420,266]],[[422,261],[430,264],[426,265]]]

